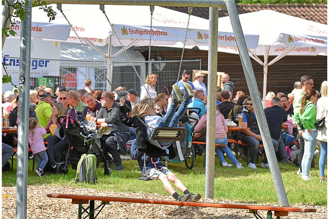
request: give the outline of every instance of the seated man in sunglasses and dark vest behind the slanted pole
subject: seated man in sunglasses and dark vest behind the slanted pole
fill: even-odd
[[[250,129],[245,129],[241,131],[240,139],[241,142],[250,147],[250,162],[248,166],[252,169],[257,169],[256,167],[256,156],[258,156],[258,148],[260,142],[262,142],[262,136],[259,131],[257,124],[256,114],[254,107],[252,105],[251,97],[247,98],[247,108],[242,110],[242,122],[247,123],[247,127]],[[279,143],[272,139],[274,150],[278,149]],[[261,167],[269,168],[267,163],[266,155]]]

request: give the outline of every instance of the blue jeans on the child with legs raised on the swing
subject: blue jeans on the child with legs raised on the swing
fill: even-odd
[[[178,108],[178,104],[175,102],[171,102],[170,107],[167,113],[162,118],[162,121],[159,124],[159,127],[177,127],[179,120],[183,117],[184,113],[186,112],[187,106],[189,105],[189,100],[184,99],[180,107]],[[171,142],[163,142],[158,141],[160,145],[169,145]]]

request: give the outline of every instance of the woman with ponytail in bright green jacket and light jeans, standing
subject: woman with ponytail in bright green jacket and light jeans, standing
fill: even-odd
[[[303,96],[300,111],[294,115],[297,124],[299,121],[302,121],[303,123],[303,138],[305,146],[302,159],[302,180],[304,181],[311,180],[311,161],[317,142],[317,130],[314,126],[314,123],[316,122],[316,109],[314,103],[317,101],[317,98],[316,90],[308,90]]]

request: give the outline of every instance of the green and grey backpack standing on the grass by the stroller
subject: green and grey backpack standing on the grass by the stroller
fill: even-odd
[[[96,173],[96,156],[93,154],[83,154],[79,160],[77,166],[77,175],[75,176],[75,182],[97,182]]]

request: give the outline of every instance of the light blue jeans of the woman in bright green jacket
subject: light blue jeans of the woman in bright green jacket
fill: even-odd
[[[310,175],[311,162],[317,143],[316,136],[317,130],[311,130],[311,133],[309,133],[307,129],[303,130],[303,139],[305,144],[302,159],[302,173],[305,175]]]

